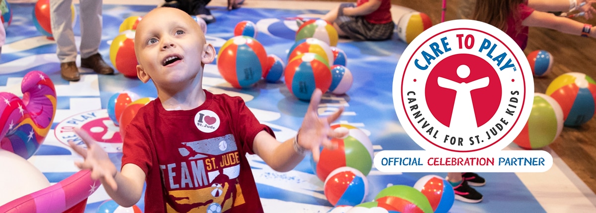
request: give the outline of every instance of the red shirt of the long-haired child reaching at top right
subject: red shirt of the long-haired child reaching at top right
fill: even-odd
[[[527,5],[527,2],[524,2],[517,7],[517,12],[519,12],[520,20],[515,20],[514,17],[510,16],[507,20],[506,33],[511,38],[513,38],[513,40],[516,41],[517,45],[519,45],[520,48],[522,48],[523,50],[526,49],[527,46],[528,27],[523,26],[522,21],[526,20],[526,18],[529,17],[532,14],[532,12],[534,12],[534,9],[529,7]]]

